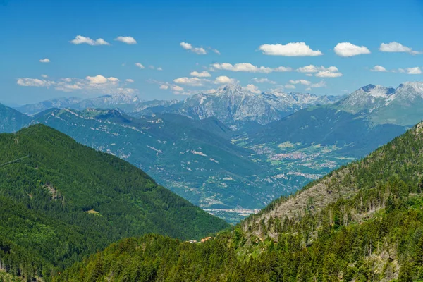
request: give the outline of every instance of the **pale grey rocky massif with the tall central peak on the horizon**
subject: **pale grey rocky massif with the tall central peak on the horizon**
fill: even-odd
[[[266,124],[309,106],[335,102],[338,97],[302,93],[263,92],[255,94],[240,85],[219,87],[212,94],[195,94],[183,102],[154,111],[188,116],[193,119],[216,117],[226,124],[254,121]],[[138,114],[144,114],[138,111]]]

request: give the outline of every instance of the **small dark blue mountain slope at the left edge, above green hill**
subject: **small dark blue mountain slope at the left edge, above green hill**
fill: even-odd
[[[33,123],[32,118],[0,104],[0,133],[11,133]]]

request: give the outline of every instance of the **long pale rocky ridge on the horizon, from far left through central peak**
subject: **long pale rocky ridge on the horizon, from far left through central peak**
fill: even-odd
[[[309,106],[336,102],[340,97],[314,94],[263,92],[255,94],[240,85],[219,87],[212,94],[199,93],[183,101],[142,101],[134,94],[104,95],[90,99],[63,98],[17,108],[25,114],[37,114],[51,108],[58,109],[115,109],[119,108],[135,117],[158,113],[180,114],[193,119],[216,117],[226,124],[255,122],[266,124]]]

